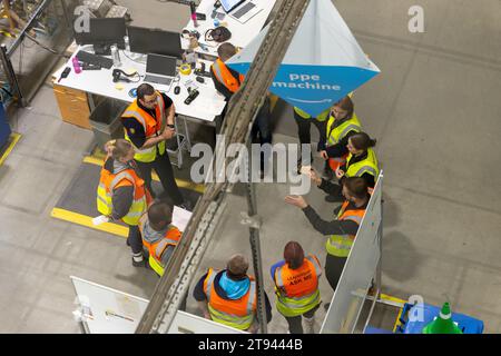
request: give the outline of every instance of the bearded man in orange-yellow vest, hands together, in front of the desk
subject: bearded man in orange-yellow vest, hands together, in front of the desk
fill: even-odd
[[[148,83],[137,88],[137,99],[121,117],[126,140],[134,144],[134,156],[146,187],[151,190],[151,169],[158,174],[164,192],[174,205],[185,204],[183,195],[174,179],[173,166],[166,149],[166,140],[175,136],[173,100],[155,90]]]

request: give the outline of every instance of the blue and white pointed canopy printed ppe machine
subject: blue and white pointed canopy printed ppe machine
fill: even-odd
[[[246,75],[267,31],[228,67]],[[377,73],[331,0],[311,0],[269,91],[316,117]]]

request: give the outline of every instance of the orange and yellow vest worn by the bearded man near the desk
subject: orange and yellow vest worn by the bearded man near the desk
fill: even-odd
[[[155,108],[155,117],[143,110],[137,99],[124,111],[122,118],[135,118],[145,129],[146,139],[157,137],[164,131],[166,125],[165,102],[163,96],[157,91],[157,106]],[[130,141],[130,138],[125,132],[125,139]],[[131,142],[131,141],[130,141]],[[165,141],[157,144],[154,147],[136,149],[134,158],[140,162],[153,162],[157,157],[157,147],[160,155],[165,154]]]

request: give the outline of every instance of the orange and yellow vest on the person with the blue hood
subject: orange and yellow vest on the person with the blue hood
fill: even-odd
[[[256,314],[256,281],[249,276],[250,287],[245,296],[236,300],[223,299],[217,295],[214,286],[216,275],[217,271],[209,268],[204,280],[204,291],[212,319],[239,330],[248,329]]]

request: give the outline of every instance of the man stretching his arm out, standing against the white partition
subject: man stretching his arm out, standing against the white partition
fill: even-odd
[[[345,201],[334,210],[335,219],[332,221],[323,220],[302,196],[285,197],[287,204],[303,210],[315,230],[328,236],[325,244],[327,251],[325,276],[333,290],[337,287],[344,264],[371,199],[367,184],[360,177],[345,178],[342,192]]]

